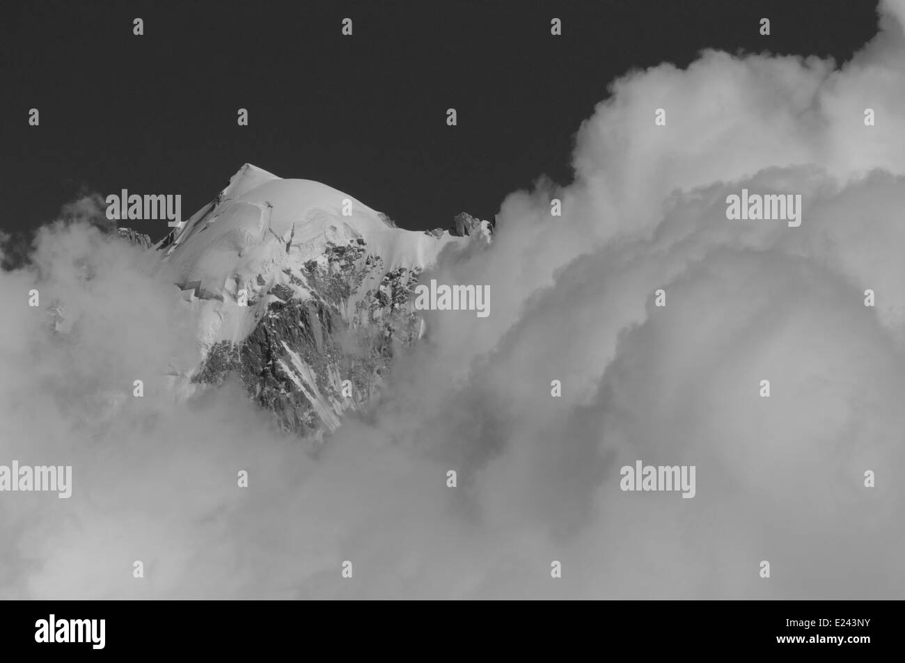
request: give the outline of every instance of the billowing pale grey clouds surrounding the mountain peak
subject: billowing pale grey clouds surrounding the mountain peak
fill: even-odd
[[[614,81],[574,182],[511,194],[489,250],[425,275],[489,285],[491,316],[429,313],[318,459],[236,385],[175,393],[196,343],[153,256],[44,228],[0,276],[0,462],[71,464],[73,495],[0,499],[0,595],[897,596],[903,24],[881,5],[842,65],[708,51]],[[728,221],[742,188],[801,194],[803,223]],[[696,466],[696,496],[621,491],[636,459]]]

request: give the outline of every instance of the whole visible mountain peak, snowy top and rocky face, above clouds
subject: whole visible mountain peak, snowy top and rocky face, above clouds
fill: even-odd
[[[157,244],[197,321],[205,359],[187,374],[237,375],[283,429],[322,440],[423,332],[421,271],[448,245],[490,241],[487,222],[465,227],[405,231],[332,187],[246,164]]]

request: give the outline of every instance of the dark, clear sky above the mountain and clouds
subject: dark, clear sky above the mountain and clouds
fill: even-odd
[[[6,2],[0,228],[49,221],[82,187],[182,194],[185,218],[245,162],[405,228],[490,219],[538,175],[570,181],[576,129],[633,67],[706,47],[843,61],[875,32],[868,1]]]

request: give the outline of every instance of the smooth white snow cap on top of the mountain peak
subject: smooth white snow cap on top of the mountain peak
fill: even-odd
[[[167,260],[183,284],[222,294],[258,289],[254,282],[260,279],[272,287],[285,280],[282,270],[319,259],[328,244],[364,240],[366,253],[380,255],[386,270],[424,269],[458,239],[448,232],[430,237],[405,231],[385,219],[331,186],[282,179],[245,164],[211,204],[175,229]]]

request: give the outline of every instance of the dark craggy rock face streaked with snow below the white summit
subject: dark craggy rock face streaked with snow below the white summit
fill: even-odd
[[[316,445],[344,412],[376,394],[396,349],[414,343],[420,330],[420,318],[407,307],[418,270],[386,271],[360,239],[329,245],[325,256],[326,265],[303,265],[303,280],[289,273],[290,285],[265,293],[275,300],[252,334],[212,346],[193,378],[222,384],[236,374],[284,431]],[[376,288],[364,289],[366,281]]]

